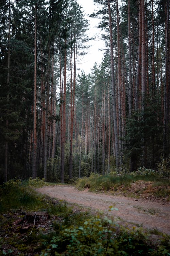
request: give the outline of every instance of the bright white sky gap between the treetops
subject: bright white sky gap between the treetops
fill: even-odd
[[[84,70],[84,72],[88,74],[90,69],[94,67],[95,62],[97,62],[97,64],[101,63],[104,51],[100,51],[99,49],[104,49],[105,46],[103,40],[100,39],[101,31],[96,28],[99,20],[97,18],[90,18],[87,16],[97,10],[97,6],[93,3],[93,0],[77,0],[77,2],[83,7],[84,13],[86,14],[85,18],[89,20],[89,37],[95,38],[95,40],[89,42],[91,46],[87,49],[87,54],[83,56],[77,64],[77,68]]]

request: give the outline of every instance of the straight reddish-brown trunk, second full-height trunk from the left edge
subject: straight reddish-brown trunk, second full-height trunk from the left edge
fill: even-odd
[[[34,31],[34,128],[33,128],[33,163],[32,163],[32,177],[33,179],[37,176],[37,167],[36,167],[36,155],[37,155],[37,131],[36,131],[36,124],[37,124],[37,93],[36,93],[36,87],[37,87],[37,27],[36,27],[36,16],[37,16],[37,6],[35,4],[35,31]]]

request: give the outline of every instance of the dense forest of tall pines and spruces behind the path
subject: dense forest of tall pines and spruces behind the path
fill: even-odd
[[[169,0],[94,3],[105,49],[85,74],[89,21],[76,0],[0,2],[0,183],[170,158]]]

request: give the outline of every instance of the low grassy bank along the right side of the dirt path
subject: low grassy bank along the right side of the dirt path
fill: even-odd
[[[144,182],[143,186],[138,184],[139,181]],[[162,179],[155,173],[108,173],[106,175],[99,175],[91,173],[90,177],[78,179],[76,187],[80,190],[89,188],[90,191],[108,191],[112,190],[114,193],[119,192],[130,197],[138,197],[148,189],[148,193],[157,198],[170,198],[170,181],[169,179]],[[135,190],[131,189],[132,184],[135,184]],[[153,189],[152,189],[153,188]],[[152,191],[153,190],[153,191]],[[147,192],[147,191],[146,191]]]

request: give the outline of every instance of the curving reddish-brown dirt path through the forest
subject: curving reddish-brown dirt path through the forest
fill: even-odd
[[[170,203],[168,202],[96,194],[87,190],[79,191],[67,185],[46,186],[38,188],[37,191],[53,198],[103,211],[120,218],[125,223],[170,234]],[[108,211],[111,205],[118,208],[118,211]]]

